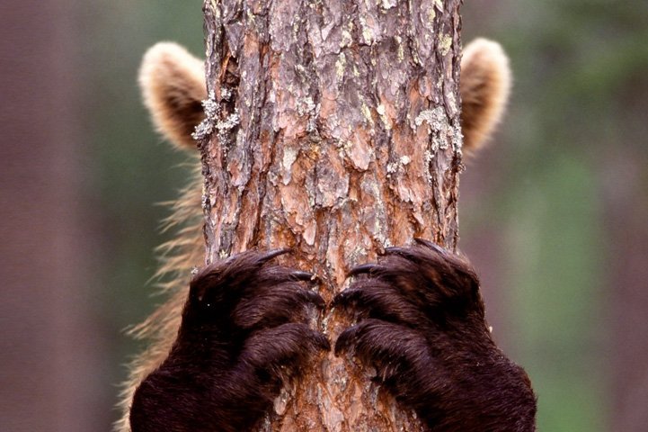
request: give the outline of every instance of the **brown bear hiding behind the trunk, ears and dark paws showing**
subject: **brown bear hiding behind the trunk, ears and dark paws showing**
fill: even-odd
[[[484,146],[501,121],[510,93],[508,58],[478,39],[463,53],[460,80],[463,150]],[[139,83],[155,127],[178,148],[191,138],[207,98],[204,67],[181,46],[149,49]],[[198,168],[199,164],[196,164]],[[306,325],[325,307],[309,285],[317,278],[278,266],[288,249],[248,250],[201,268],[200,173],[173,204],[178,238],[163,245],[160,275],[171,293],[133,330],[152,340],[131,366],[120,431],[253,430],[287,380],[319,351],[324,334]],[[536,397],[528,375],[503,355],[484,319],[475,270],[465,257],[428,240],[387,247],[377,263],[351,269],[350,286],[331,307],[357,324],[335,341],[376,370],[376,380],[431,431],[535,430]],[[395,342],[394,336],[398,335]]]

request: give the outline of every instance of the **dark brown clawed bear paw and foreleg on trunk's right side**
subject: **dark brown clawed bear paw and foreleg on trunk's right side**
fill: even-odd
[[[475,271],[463,257],[416,243],[351,270],[357,278],[333,306],[359,322],[335,353],[374,367],[377,382],[433,431],[533,430],[530,382],[491,338]]]

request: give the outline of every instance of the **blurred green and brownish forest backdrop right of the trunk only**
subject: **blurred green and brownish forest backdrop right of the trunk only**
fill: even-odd
[[[515,76],[459,201],[495,335],[531,375],[540,430],[646,430],[648,3],[464,13],[465,38],[501,40]]]

